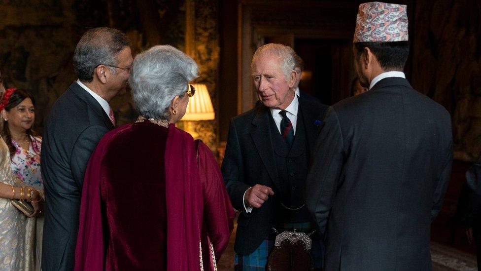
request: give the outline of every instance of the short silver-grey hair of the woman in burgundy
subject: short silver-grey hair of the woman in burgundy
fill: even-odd
[[[195,61],[171,45],[157,45],[141,52],[132,63],[129,78],[138,113],[169,120],[172,99],[182,97],[198,73]]]

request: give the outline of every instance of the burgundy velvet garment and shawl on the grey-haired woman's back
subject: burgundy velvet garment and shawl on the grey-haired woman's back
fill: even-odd
[[[133,143],[137,146],[124,148]],[[233,210],[210,150],[200,144],[199,168],[195,155],[192,137],[173,124],[166,129],[145,121],[107,133],[85,173],[75,270],[200,270],[200,240],[202,235],[205,244],[207,233],[220,257],[232,232]],[[137,178],[112,182],[129,174],[122,166],[129,157],[141,165],[130,168]],[[124,212],[125,206],[131,209]],[[146,210],[148,215],[142,213]]]

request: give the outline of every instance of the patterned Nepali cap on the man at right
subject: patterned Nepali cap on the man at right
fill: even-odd
[[[353,42],[408,40],[407,6],[383,2],[359,5]]]

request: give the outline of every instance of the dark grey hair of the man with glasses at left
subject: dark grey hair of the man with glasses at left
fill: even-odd
[[[124,33],[108,27],[93,28],[78,41],[73,54],[73,69],[82,82],[91,82],[94,69],[103,64],[117,66],[118,53],[129,46]],[[115,73],[114,68],[109,70]]]

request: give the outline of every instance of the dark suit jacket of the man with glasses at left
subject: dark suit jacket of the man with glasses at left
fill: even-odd
[[[97,143],[112,128],[99,102],[76,82],[50,111],[41,151],[43,270],[73,270],[85,168]]]

